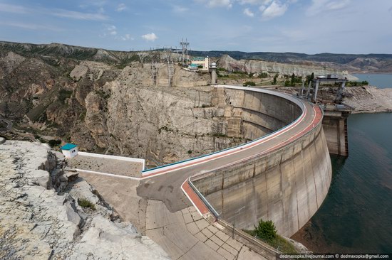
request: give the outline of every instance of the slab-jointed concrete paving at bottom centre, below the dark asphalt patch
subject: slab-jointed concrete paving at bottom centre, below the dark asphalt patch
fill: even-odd
[[[195,207],[171,213],[163,202],[148,200],[145,234],[172,259],[263,259],[220,229]]]

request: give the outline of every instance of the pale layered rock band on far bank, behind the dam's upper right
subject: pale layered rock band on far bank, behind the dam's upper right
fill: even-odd
[[[292,75],[294,73],[299,76],[311,75],[314,72],[315,76],[337,74],[340,77],[347,77],[349,80],[356,80],[356,77],[350,75],[346,70],[331,70],[314,65],[274,63],[264,60],[235,60],[229,55],[222,55],[217,61],[217,65],[229,71],[279,72],[281,75]]]

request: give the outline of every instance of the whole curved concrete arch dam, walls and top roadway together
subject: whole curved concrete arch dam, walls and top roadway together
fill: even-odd
[[[323,112],[280,92],[215,90],[212,104],[225,108],[227,135],[252,141],[145,170],[138,195],[162,200],[176,212],[184,207],[182,190],[187,193],[190,183],[200,196],[187,197],[202,214],[208,208],[242,229],[252,229],[260,218],[272,220],[279,234],[292,236],[318,210],[331,183]]]

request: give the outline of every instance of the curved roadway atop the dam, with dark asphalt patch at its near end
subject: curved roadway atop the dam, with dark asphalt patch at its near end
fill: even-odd
[[[217,86],[223,87],[223,86]],[[185,188],[187,178],[192,175],[198,175],[210,172],[217,168],[227,167],[232,164],[241,163],[254,156],[260,156],[264,153],[275,151],[292,141],[304,136],[313,129],[322,120],[323,114],[319,106],[311,104],[306,100],[297,99],[288,94],[273,92],[269,90],[261,90],[249,87],[226,86],[228,89],[247,90],[254,92],[264,92],[267,94],[278,95],[297,104],[301,107],[302,114],[294,122],[279,129],[272,134],[256,139],[242,146],[229,148],[225,151],[212,153],[200,158],[188,161],[174,163],[159,168],[145,170],[143,172],[143,180],[138,186],[138,195],[146,197],[150,200],[160,200],[165,203],[170,212],[177,212],[185,207],[184,201],[187,201],[182,191]],[[198,211],[203,215],[207,213],[207,208],[199,202],[197,198],[190,197],[191,202]]]

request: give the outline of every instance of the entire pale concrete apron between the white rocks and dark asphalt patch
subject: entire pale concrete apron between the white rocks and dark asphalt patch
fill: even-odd
[[[164,202],[145,200],[136,194],[137,180],[79,173],[91,183],[123,220],[153,239],[172,259],[265,259],[222,232],[219,224],[202,218],[189,201],[170,212]]]

